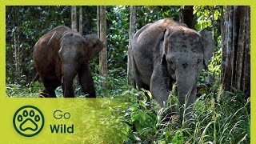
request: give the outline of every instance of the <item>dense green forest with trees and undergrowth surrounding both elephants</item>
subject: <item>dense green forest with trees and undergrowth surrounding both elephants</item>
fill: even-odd
[[[77,12],[72,7],[6,6],[7,97],[38,97],[43,89],[40,80],[30,85],[36,75],[33,47],[43,34],[60,25],[75,26],[83,35],[99,34],[102,6],[75,6]],[[101,56],[90,62],[90,69],[98,97],[118,98],[126,103],[122,109],[114,110],[115,118],[121,122],[112,123],[114,130],[122,130],[118,133],[118,142],[250,143],[249,6],[104,7],[107,75],[100,73]],[[72,13],[77,17],[73,18]],[[136,102],[136,96],[142,93],[128,84],[132,78],[128,77],[130,34],[162,18],[184,22],[197,31],[206,28],[217,43],[208,70],[202,71],[198,81],[193,122],[165,128],[159,124],[162,120],[153,110],[140,109],[146,101]],[[72,24],[74,21],[76,25]],[[134,30],[131,23],[134,23]],[[102,82],[107,84],[102,85]],[[62,97],[61,87],[56,92]],[[77,86],[75,94],[82,95],[81,87]],[[154,100],[152,103],[157,105]]]

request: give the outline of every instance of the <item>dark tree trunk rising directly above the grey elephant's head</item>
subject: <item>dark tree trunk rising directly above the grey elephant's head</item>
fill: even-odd
[[[194,29],[194,6],[181,6],[182,12],[180,13],[180,22],[185,23],[191,29]]]

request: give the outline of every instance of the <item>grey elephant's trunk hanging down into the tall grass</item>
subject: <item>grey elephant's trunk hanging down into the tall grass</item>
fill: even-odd
[[[177,75],[178,101],[182,105],[180,115],[189,118],[196,97],[196,74],[180,73]],[[185,104],[185,105],[184,105]],[[185,108],[185,113],[184,113]]]

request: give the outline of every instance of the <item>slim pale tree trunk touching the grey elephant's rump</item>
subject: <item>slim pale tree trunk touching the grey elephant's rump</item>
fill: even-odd
[[[134,74],[131,65],[131,41],[134,38],[134,31],[135,31],[135,21],[136,21],[136,7],[130,6],[130,32],[129,32],[129,47],[128,47],[128,66],[127,66],[127,79],[129,85],[134,84]]]

